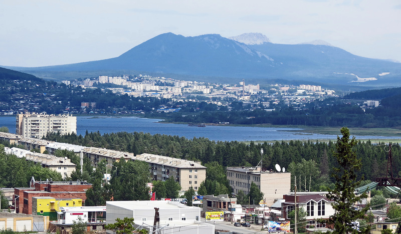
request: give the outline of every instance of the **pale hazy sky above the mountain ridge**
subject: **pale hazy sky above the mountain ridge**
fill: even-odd
[[[113,58],[162,33],[262,33],[272,43],[324,40],[401,61],[399,0],[0,0],[0,65]]]

